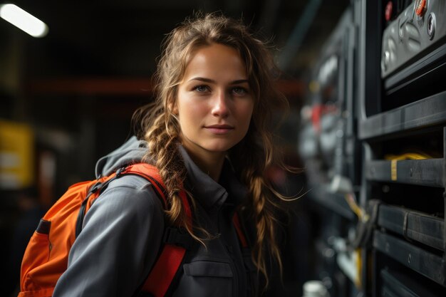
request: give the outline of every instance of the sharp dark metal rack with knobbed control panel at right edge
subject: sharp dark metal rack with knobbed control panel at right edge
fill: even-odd
[[[364,16],[358,51],[358,138],[366,152],[361,204],[366,207],[372,199],[380,202],[371,245],[363,252],[363,261],[373,266],[364,268],[364,273],[372,271],[368,279],[373,280],[364,293],[373,297],[446,296],[446,85],[439,78],[445,73],[446,38],[429,38],[423,27],[432,15],[444,19],[445,1],[413,1],[395,19],[384,20],[386,2],[356,2]],[[418,4],[425,7],[415,14]],[[412,12],[413,19],[408,19]],[[422,45],[422,51],[410,57],[405,43],[413,40],[405,39],[404,26],[417,30]],[[440,30],[438,34],[445,34],[444,28]],[[391,68],[391,73],[389,68],[381,73],[379,66],[389,58],[386,46],[395,40],[394,59],[398,61],[400,55],[405,60]],[[376,43],[383,43],[383,48],[376,48]],[[429,147],[430,135],[442,135],[435,139],[440,145]],[[385,157],[388,152],[398,155],[410,149],[401,147],[408,143],[420,150],[435,150],[435,157]],[[397,190],[385,192],[389,188]],[[435,204],[430,206],[430,202]]]

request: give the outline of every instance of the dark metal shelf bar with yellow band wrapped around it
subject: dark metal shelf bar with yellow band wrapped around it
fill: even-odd
[[[365,178],[377,182],[445,187],[445,160],[371,160],[365,162]]]

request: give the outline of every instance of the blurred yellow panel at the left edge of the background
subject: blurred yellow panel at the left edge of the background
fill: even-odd
[[[29,125],[0,120],[0,188],[21,189],[33,183],[34,137]]]

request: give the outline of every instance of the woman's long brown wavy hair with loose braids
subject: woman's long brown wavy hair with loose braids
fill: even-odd
[[[158,61],[155,102],[140,108],[133,122],[142,131],[140,137],[148,142],[145,160],[155,160],[165,181],[170,208],[167,216],[172,224],[184,226],[195,239],[200,240],[192,226],[187,225],[185,211],[178,193],[186,178],[186,169],[178,143],[180,125],[172,113],[187,63],[199,48],[213,43],[229,46],[238,51],[247,69],[250,88],[254,94],[254,113],[244,139],[232,147],[227,156],[239,178],[247,185],[249,194],[240,211],[255,222],[256,239],[252,258],[258,271],[266,278],[266,259],[273,256],[281,269],[281,256],[276,243],[278,225],[276,210],[281,194],[274,191],[266,170],[279,165],[286,168],[274,149],[271,132],[272,110],[288,108],[284,95],[276,89],[274,80],[279,73],[268,43],[254,36],[242,20],[229,19],[222,14],[196,14],[175,28],[162,43]],[[192,198],[193,202],[193,198]],[[245,217],[245,216],[244,216]],[[200,240],[201,241],[201,240]]]

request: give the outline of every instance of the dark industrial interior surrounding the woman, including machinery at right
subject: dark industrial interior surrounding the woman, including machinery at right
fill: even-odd
[[[162,39],[196,11],[270,40],[290,103],[276,146],[304,172],[266,174],[303,196],[280,217],[269,296],[302,296],[308,280],[331,297],[446,296],[446,0],[14,4],[49,31],[0,19],[1,296],[15,296],[42,212],[132,135]]]

